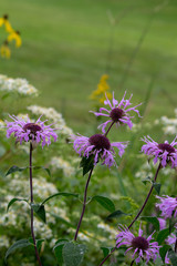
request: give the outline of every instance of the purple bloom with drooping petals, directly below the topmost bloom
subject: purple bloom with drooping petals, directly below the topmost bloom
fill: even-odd
[[[113,147],[117,147],[118,154],[122,156],[125,147],[127,146],[127,142],[111,143],[110,140],[102,134],[95,134],[91,137],[73,135],[72,140],[74,150],[80,154],[80,156],[88,157],[93,154],[94,165],[96,165],[101,160],[103,164],[107,165],[108,167],[116,165],[114,160],[115,151]]]

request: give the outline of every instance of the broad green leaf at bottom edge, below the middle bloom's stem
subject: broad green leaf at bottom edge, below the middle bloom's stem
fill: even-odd
[[[65,263],[65,266],[80,266],[83,260],[85,250],[85,245],[71,242],[64,244],[63,260]]]

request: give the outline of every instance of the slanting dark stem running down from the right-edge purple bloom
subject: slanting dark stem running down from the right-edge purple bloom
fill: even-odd
[[[157,171],[156,171],[156,174],[155,174],[155,176],[154,176],[154,181],[153,181],[153,182],[156,182],[157,175],[158,175],[160,168],[162,168],[162,164],[159,163],[158,168],[157,168]],[[128,229],[133,226],[133,224],[135,223],[135,221],[139,217],[140,213],[143,212],[144,207],[146,206],[146,203],[148,202],[148,198],[149,198],[149,196],[150,196],[150,194],[152,194],[152,192],[153,192],[153,187],[154,187],[154,184],[152,185],[152,187],[150,187],[150,190],[149,190],[149,193],[148,193],[148,195],[147,195],[147,197],[146,197],[146,200],[145,200],[142,208],[140,208],[140,211],[138,212],[138,214],[136,215],[136,217],[134,218],[134,221],[129,224]],[[113,254],[115,250],[116,250],[116,246],[115,246],[115,247],[112,249],[112,252],[102,260],[102,263],[101,263],[98,266],[103,265],[103,264],[112,256],[112,254]],[[134,260],[133,260],[132,263],[134,263]],[[131,264],[131,265],[133,265],[133,264]]]

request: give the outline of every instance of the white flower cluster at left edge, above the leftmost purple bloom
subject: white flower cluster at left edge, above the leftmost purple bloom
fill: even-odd
[[[25,79],[12,79],[0,74],[0,91],[18,92],[21,95],[38,95],[38,90]]]

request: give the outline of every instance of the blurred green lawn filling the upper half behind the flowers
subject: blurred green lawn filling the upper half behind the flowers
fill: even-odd
[[[75,131],[85,133],[90,129],[93,115],[87,112],[92,109],[88,95],[96,89],[107,63],[116,98],[126,89],[128,94],[134,94],[134,104],[144,101],[154,80],[145,121],[174,115],[177,101],[175,0],[2,0],[0,10],[2,16],[10,16],[23,42],[19,50],[13,49],[11,60],[0,59],[0,72],[27,78],[41,91],[34,104],[63,112]],[[158,11],[152,17],[155,10]],[[114,29],[108,11],[117,19]]]

